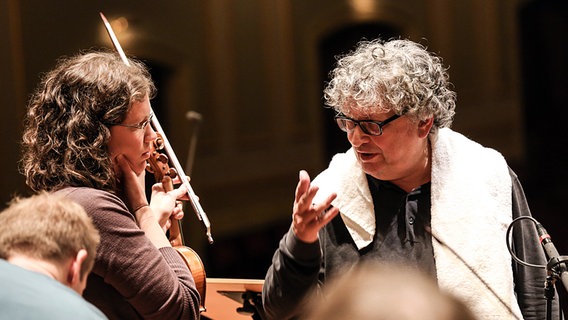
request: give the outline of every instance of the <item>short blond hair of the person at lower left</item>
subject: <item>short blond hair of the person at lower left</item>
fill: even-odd
[[[14,198],[0,213],[0,258],[19,254],[60,263],[87,251],[81,278],[95,263],[99,232],[82,206],[47,192]]]

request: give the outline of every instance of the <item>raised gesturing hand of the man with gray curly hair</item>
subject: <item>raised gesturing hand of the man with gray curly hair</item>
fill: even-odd
[[[321,203],[313,203],[319,188],[311,185],[310,176],[304,170],[300,171],[299,179],[294,198],[292,230],[301,241],[312,243],[318,239],[319,230],[339,213],[339,209],[331,207],[337,194],[330,194]]]

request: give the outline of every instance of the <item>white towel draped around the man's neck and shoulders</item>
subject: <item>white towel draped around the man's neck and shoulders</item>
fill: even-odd
[[[448,128],[432,143],[432,233],[454,249],[519,319],[506,230],[511,222],[511,178],[501,154]],[[338,154],[314,184],[314,202],[330,192],[359,249],[375,235],[375,214],[366,176],[352,149]],[[451,252],[433,240],[440,287],[463,299],[479,319],[513,319],[509,311]]]

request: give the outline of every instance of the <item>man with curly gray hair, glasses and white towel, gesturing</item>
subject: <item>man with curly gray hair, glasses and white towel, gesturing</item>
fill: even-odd
[[[450,129],[456,94],[441,59],[409,40],[363,41],[340,57],[324,97],[351,148],[313,181],[300,171],[266,274],[266,317],[298,316],[326,278],[378,261],[429,274],[479,319],[544,319],[546,272],[511,267],[505,241],[512,220],[531,215],[521,184],[500,153]],[[537,239],[528,227],[513,242],[544,265]]]

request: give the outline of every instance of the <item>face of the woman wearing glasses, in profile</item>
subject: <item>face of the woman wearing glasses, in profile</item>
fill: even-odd
[[[150,101],[146,97],[143,101],[132,104],[121,124],[110,127],[108,149],[113,163],[117,155],[123,154],[136,174],[146,169],[152,142],[157,137],[149,123],[150,116]]]

